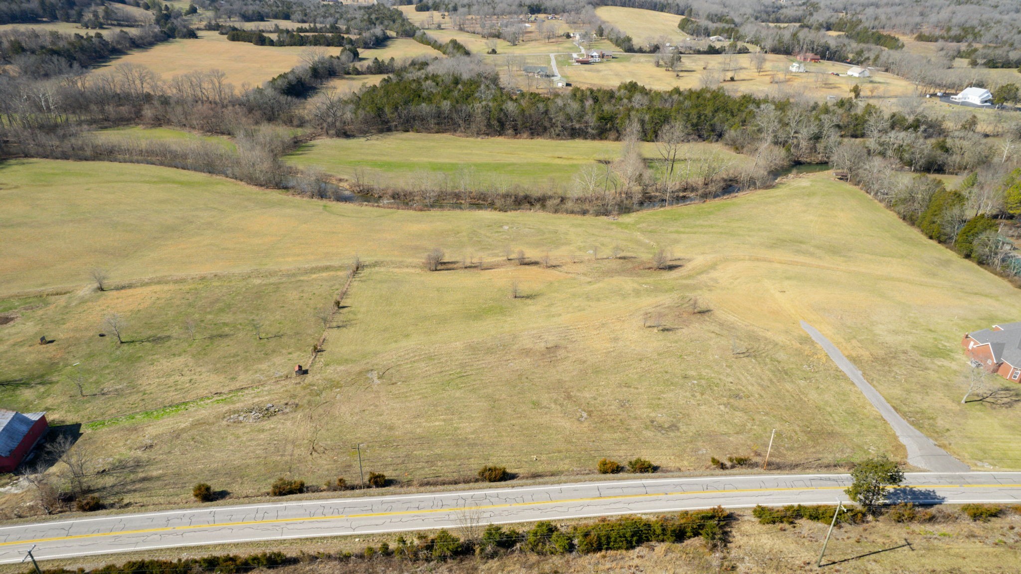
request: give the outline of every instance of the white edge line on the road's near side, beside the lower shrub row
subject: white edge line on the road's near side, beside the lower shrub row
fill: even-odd
[[[844,500],[845,501],[845,500]],[[981,504],[992,504],[992,503],[1016,503],[1017,499],[979,499],[979,500],[913,500],[918,504],[941,504],[941,505],[955,505],[964,503],[981,503]],[[829,505],[830,503],[805,503],[805,506],[822,506]],[[683,508],[673,508],[673,509],[661,509],[652,511],[641,511],[641,512],[614,512],[614,513],[595,513],[586,515],[576,515],[576,516],[562,516],[552,518],[542,518],[540,520],[504,520],[504,521],[492,521],[486,522],[485,524],[523,524],[528,522],[552,522],[556,520],[575,520],[581,518],[597,518],[600,516],[623,516],[623,515],[643,515],[643,514],[662,514],[670,512],[681,512],[681,511],[697,511],[706,509],[715,509],[717,507],[723,509],[750,509],[758,505],[711,505],[711,506],[699,506],[699,507],[683,507]],[[163,544],[159,546],[146,546],[146,547],[135,547],[135,548],[116,548],[108,551],[94,551],[88,553],[71,553],[53,556],[36,556],[37,560],[56,560],[60,558],[77,558],[93,555],[106,555],[106,554],[120,554],[120,553],[133,553],[133,552],[145,552],[145,551],[156,551],[165,548],[180,548],[186,546],[208,546],[214,544],[238,544],[246,542],[262,542],[265,540],[290,540],[290,539],[300,539],[300,538],[325,538],[330,536],[353,536],[356,534],[397,534],[400,532],[417,532],[420,530],[440,530],[444,528],[443,526],[425,526],[421,528],[400,528],[391,530],[358,530],[350,532],[327,532],[319,534],[301,534],[297,536],[264,536],[261,538],[242,538],[237,540],[217,540],[211,542],[189,542],[187,544]],[[21,560],[0,560],[0,564],[15,564],[22,562]]]

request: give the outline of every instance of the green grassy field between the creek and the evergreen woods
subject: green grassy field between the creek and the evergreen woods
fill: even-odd
[[[654,144],[642,144],[648,159]],[[477,184],[522,185],[566,191],[575,175],[598,160],[616,159],[618,142],[586,140],[477,140],[445,134],[396,133],[369,138],[320,139],[290,155],[296,165],[314,166],[343,179],[366,170],[376,185],[411,187],[423,174],[467,177]],[[748,158],[724,146],[690,144],[685,155],[718,154],[734,168]]]

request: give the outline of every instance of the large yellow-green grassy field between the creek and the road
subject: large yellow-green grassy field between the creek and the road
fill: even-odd
[[[777,468],[903,457],[799,320],[953,453],[1021,459],[1013,411],[960,403],[959,348],[962,333],[1015,318],[1021,293],[826,174],[617,220],[380,209],[102,162],[8,161],[0,180],[0,309],[14,318],[0,326],[0,401],[98,420],[82,444],[111,469],[104,496],[351,478],[356,442],[367,471],[402,480],[484,463],[585,472],[603,456],[700,472],[713,456],[761,455],[774,428]],[[435,246],[447,271],[428,273]],[[658,247],[675,269],[647,268]],[[551,267],[506,260],[518,249]],[[308,376],[281,380],[309,356],[314,314],[355,253],[367,267],[325,350]],[[111,290],[90,287],[93,267]],[[110,313],[134,342],[97,336]]]

